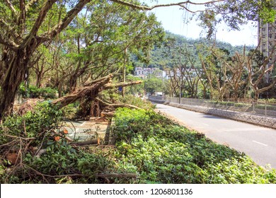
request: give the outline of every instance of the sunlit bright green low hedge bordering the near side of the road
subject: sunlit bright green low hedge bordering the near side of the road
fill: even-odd
[[[244,153],[190,132],[171,120],[144,110],[116,112],[117,158],[137,173],[137,182],[275,183]]]

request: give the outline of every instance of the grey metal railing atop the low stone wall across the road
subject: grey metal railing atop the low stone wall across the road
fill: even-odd
[[[180,103],[183,105],[193,105],[200,107],[210,107],[234,112],[246,112],[253,115],[265,115],[276,117],[276,104],[263,102],[233,102],[231,100],[217,101],[198,98],[171,98],[168,96],[149,96],[149,100],[156,100],[163,103]]]

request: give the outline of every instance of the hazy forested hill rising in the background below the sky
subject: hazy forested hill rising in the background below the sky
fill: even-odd
[[[170,43],[170,44],[168,44]],[[172,44],[173,43],[173,44]],[[168,46],[171,45],[171,46]],[[174,46],[172,46],[174,45]],[[186,38],[182,35],[176,35],[173,33],[166,32],[166,40],[163,42],[163,45],[154,47],[154,50],[151,51],[149,56],[149,62],[143,63],[139,62],[137,57],[132,57],[133,59],[133,66],[142,66],[142,67],[157,67],[159,69],[163,70],[163,67],[165,65],[171,64],[173,61],[170,56],[167,55],[167,52],[174,47],[176,48],[182,48],[188,49],[190,51],[190,54],[197,54],[196,48],[198,45],[202,46],[212,46],[214,45],[214,40],[207,40],[205,38],[199,38],[199,39],[191,39]],[[243,45],[239,46],[232,46],[230,43],[227,42],[221,42],[216,41],[215,47],[219,49],[223,49],[229,52],[229,56],[232,56],[235,54],[235,52],[243,53]],[[246,52],[248,52],[251,49],[255,49],[255,46],[246,46]]]

